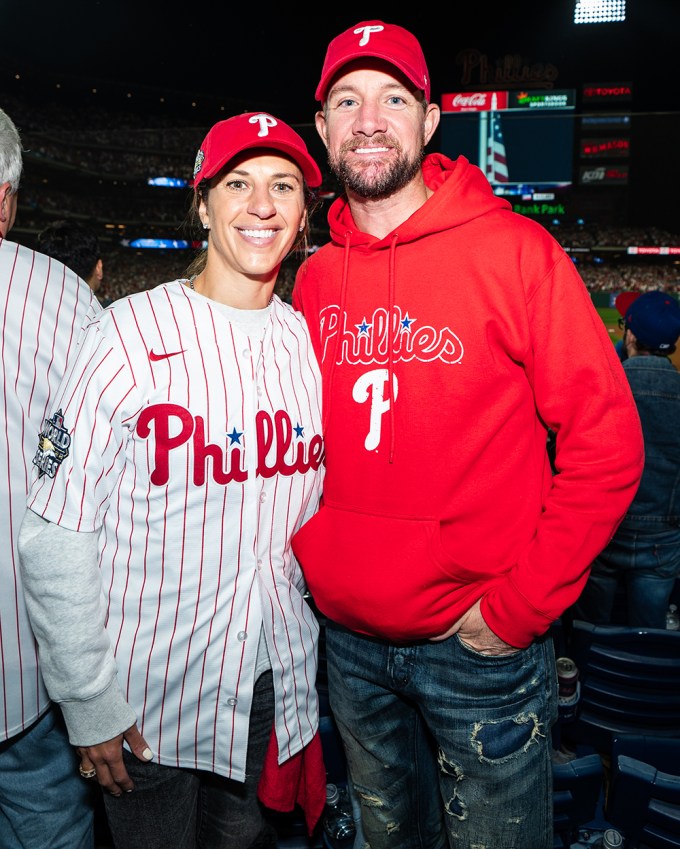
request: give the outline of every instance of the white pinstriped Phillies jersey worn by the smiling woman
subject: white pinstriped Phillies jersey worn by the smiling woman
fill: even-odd
[[[246,332],[182,281],[88,328],[42,428],[29,507],[100,532],[118,683],[158,763],[245,778],[261,633],[279,759],[318,727],[318,623],[290,538],[323,481],[320,373],[274,297]]]

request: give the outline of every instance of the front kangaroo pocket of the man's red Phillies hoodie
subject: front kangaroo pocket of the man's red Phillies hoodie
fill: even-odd
[[[482,595],[488,578],[447,555],[435,519],[328,504],[295,534],[293,551],[325,616],[391,640],[442,634]]]

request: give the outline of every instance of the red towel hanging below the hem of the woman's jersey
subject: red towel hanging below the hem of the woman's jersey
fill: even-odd
[[[311,835],[326,804],[326,767],[321,736],[317,731],[311,742],[284,763],[278,762],[276,730],[272,731],[257,788],[263,805],[274,811],[292,811],[299,805],[305,814]]]

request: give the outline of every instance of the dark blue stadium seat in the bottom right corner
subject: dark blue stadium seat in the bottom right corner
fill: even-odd
[[[614,738],[606,815],[626,849],[680,848],[680,739]]]

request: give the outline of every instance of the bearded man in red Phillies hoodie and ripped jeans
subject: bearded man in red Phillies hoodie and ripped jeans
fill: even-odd
[[[410,32],[350,27],[316,97],[345,195],[293,295],[327,452],[324,505],[294,547],[328,619],[364,836],[546,849],[547,632],[635,493],[630,388],[559,244],[463,157],[423,159],[439,108]]]

